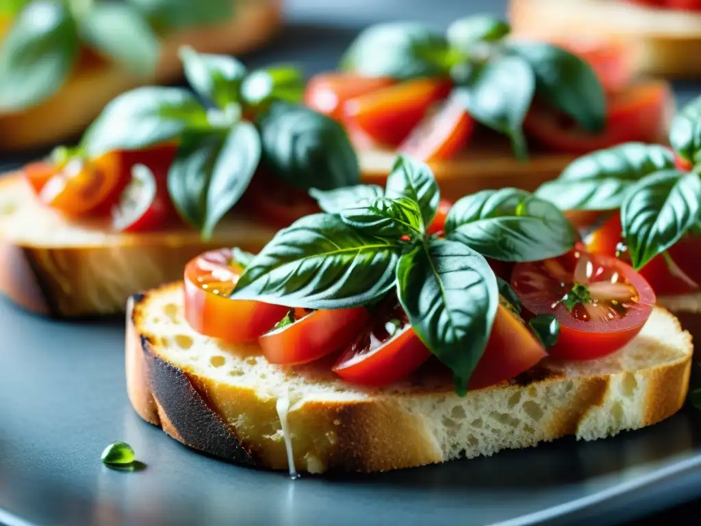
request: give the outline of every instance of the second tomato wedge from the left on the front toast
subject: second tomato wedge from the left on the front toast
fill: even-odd
[[[351,344],[369,318],[365,307],[313,311],[258,342],[270,363],[308,363]]]

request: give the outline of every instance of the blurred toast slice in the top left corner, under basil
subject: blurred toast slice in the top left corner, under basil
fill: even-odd
[[[206,0],[203,0],[206,1]],[[275,34],[282,22],[281,0],[232,0],[236,15],[215,25],[179,30],[165,37],[154,76],[135,76],[114,62],[80,67],[58,93],[21,112],[0,112],[0,150],[44,146],[83,130],[107,102],[131,88],[182,78],[178,48],[202,53],[245,53]]]

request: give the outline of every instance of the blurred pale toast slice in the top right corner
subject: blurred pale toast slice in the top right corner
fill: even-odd
[[[511,0],[515,34],[534,38],[615,37],[632,41],[638,72],[701,76],[701,13],[621,0]]]

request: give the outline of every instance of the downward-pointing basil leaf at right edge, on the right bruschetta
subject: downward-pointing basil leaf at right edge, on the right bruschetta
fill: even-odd
[[[620,220],[634,269],[679,241],[700,219],[701,180],[665,170],[639,181],[623,201]]]

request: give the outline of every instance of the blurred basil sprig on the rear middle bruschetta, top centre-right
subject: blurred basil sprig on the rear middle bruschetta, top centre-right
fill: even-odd
[[[369,27],[341,60],[341,69],[364,76],[450,77],[451,97],[484,126],[507,135],[526,159],[522,130],[535,98],[571,116],[584,130],[600,131],[606,97],[592,68],[547,43],[505,41],[507,22],[491,15],[455,20],[446,34],[416,22]]]

